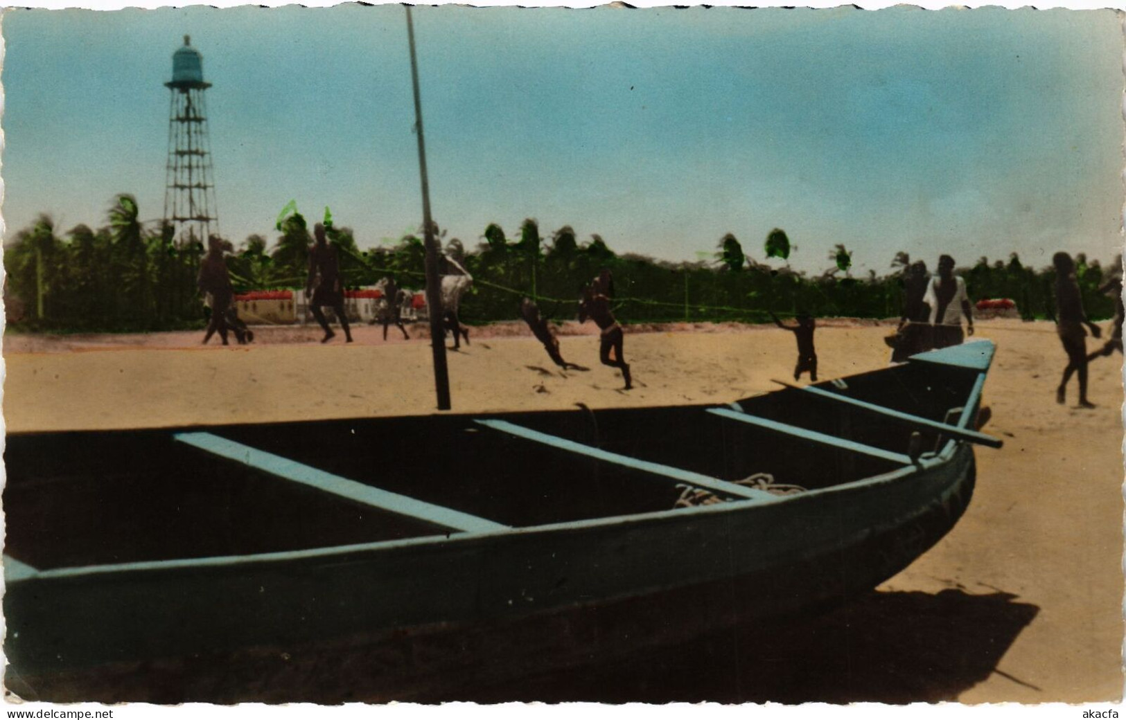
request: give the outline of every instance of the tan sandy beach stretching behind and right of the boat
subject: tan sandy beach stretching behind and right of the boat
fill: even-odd
[[[998,344],[984,430],[1006,446],[976,451],[974,500],[947,538],[872,598],[822,621],[834,647],[849,650],[843,660],[824,652],[802,659],[805,700],[1121,698],[1121,357],[1091,364],[1096,410],[1074,407],[1074,381],[1061,406],[1054,390],[1064,353],[1053,325],[995,320],[977,327]],[[598,363],[589,330],[566,326],[561,338],[564,358],[589,370],[561,371],[521,326],[474,328],[472,344],[448,354],[454,412],[718,403],[792,379],[794,339],[776,327],[649,330],[626,335],[636,388],[624,392],[617,371]],[[816,335],[822,379],[884,367],[890,332],[886,324],[824,323]],[[348,345],[340,336],[321,345],[311,327],[261,328],[245,346],[202,346],[199,338],[9,334],[8,432],[436,412],[430,345],[421,339],[384,342],[373,326],[357,328]],[[618,670],[615,690],[600,699],[757,699],[744,692],[747,678],[730,673],[691,686],[671,680],[682,674],[678,664],[745,654],[741,641],[752,638],[736,633],[656,656],[644,677]],[[555,677],[520,692],[588,699],[560,690],[566,684]],[[481,699],[506,695],[516,699],[511,688],[482,690]]]

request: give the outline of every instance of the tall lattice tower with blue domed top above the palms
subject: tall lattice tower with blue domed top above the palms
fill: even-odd
[[[184,36],[184,47],[172,53],[172,91],[168,114],[168,168],[164,222],[181,242],[206,244],[218,234],[218,208],[207,138],[207,100],[203,55]]]

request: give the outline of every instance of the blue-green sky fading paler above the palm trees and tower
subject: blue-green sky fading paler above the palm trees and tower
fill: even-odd
[[[431,202],[450,236],[574,226],[691,260],[734,233],[794,267],[834,243],[884,272],[1121,244],[1111,11],[415,9]],[[291,199],[361,246],[419,224],[404,10],[9,10],[9,235],[163,207],[171,53],[204,56],[220,222],[274,237]]]

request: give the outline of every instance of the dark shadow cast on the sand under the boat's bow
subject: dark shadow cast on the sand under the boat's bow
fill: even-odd
[[[1003,592],[873,592],[812,619],[744,627],[428,700],[941,702],[998,673],[1039,608]],[[686,612],[691,612],[690,610]]]

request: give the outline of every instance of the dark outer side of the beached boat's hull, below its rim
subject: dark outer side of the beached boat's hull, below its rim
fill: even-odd
[[[10,677],[54,701],[456,693],[459,680],[844,602],[954,525],[973,468],[972,450],[951,444],[933,467],[789,501],[785,513],[707,508],[432,547],[29,578],[5,597]],[[304,688],[268,680],[346,658]]]

